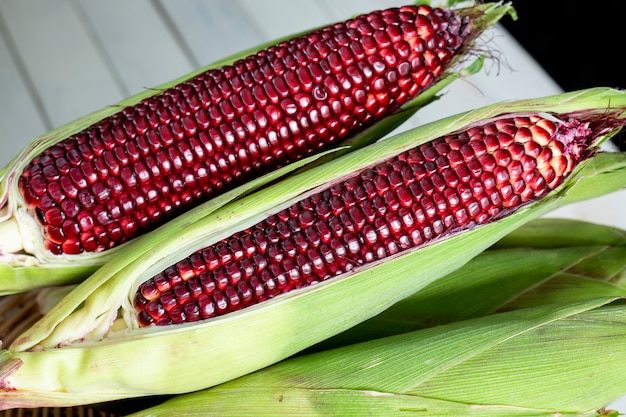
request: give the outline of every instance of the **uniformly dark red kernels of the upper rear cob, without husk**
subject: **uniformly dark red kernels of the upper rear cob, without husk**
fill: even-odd
[[[52,253],[118,246],[398,109],[463,50],[470,23],[407,6],[270,47],[50,147],[19,190]]]

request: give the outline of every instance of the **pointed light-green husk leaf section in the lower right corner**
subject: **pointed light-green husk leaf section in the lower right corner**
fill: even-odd
[[[604,407],[626,392],[625,313],[623,302],[619,302],[572,315],[511,343],[503,343],[446,375],[432,378],[417,390],[421,395],[439,397],[438,392],[444,389],[446,396],[470,403],[514,401],[519,405],[564,410]],[[520,355],[524,349],[535,352]],[[477,376],[479,373],[481,377]],[[458,385],[452,386],[453,380]],[[469,381],[485,390],[477,395],[467,386],[461,388]],[[516,383],[517,399],[510,398],[510,391],[497,389],[505,381]]]

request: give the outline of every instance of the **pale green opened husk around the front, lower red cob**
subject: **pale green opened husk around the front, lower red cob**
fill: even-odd
[[[177,228],[178,233],[173,238],[160,240],[157,247],[141,252],[139,256],[132,248],[141,247],[141,241],[130,242],[127,256],[115,258],[80,283],[42,320],[0,353],[4,359],[0,363],[0,385],[5,388],[0,392],[0,408],[77,405],[198,390],[268,366],[353,327],[459,268],[532,218],[562,204],[623,187],[626,154],[596,153],[595,149],[620,129],[626,115],[624,109],[626,93],[611,89],[591,89],[488,106],[407,131],[285,178],[224,205],[187,227]],[[451,143],[454,142],[451,138],[462,132],[483,132],[487,126],[491,129],[504,120],[530,121],[536,116],[538,120],[549,119],[560,126],[559,129],[567,130],[580,123],[580,128],[576,129],[578,133],[565,136],[568,139],[557,135],[558,139],[545,142],[548,146],[553,140],[568,143],[562,151],[565,162],[557,157],[560,162],[555,164],[560,167],[556,170],[559,175],[569,174],[567,178],[554,180],[552,168],[541,165],[544,166],[542,173],[550,173],[545,183],[556,188],[548,191],[535,187],[528,195],[524,192],[526,188],[520,189],[519,201],[514,199],[517,201],[514,207],[505,207],[506,201],[514,200],[502,198],[498,193],[502,207],[493,209],[495,203],[492,202],[484,208],[488,214],[486,217],[473,213],[476,219],[468,216],[472,220],[463,226],[451,227],[445,233],[435,232],[439,226],[435,226],[437,221],[433,220],[433,225],[429,226],[432,239],[425,239],[422,244],[406,249],[398,244],[398,251],[384,259],[368,257],[369,262],[351,266],[336,258],[330,268],[345,272],[238,311],[167,326],[143,326],[145,323],[138,318],[137,303],[133,300],[139,288],[146,292],[142,283],[149,282],[161,271],[179,264],[195,252],[225,239],[229,241],[231,236],[247,230],[258,230],[254,227],[256,224],[265,225],[263,221],[272,216],[279,217],[279,213],[293,204],[311,200],[320,193],[323,195],[324,190],[360,178],[359,173],[372,172],[373,167],[385,165],[400,155],[415,154],[414,149],[422,153],[425,149],[433,149],[428,145],[422,147],[424,144],[441,148],[444,142],[440,138]],[[524,143],[530,144],[530,154],[537,150],[532,142]],[[496,148],[489,148],[489,152],[497,153],[500,146]],[[539,151],[538,155],[542,152]],[[426,154],[429,155],[430,151]],[[567,161],[568,155],[572,156],[571,165]],[[436,160],[424,161],[423,168],[436,167]],[[468,162],[467,165],[471,164]],[[494,164],[494,170],[496,166]],[[436,174],[437,170],[429,174],[433,184],[439,183],[433,180]],[[393,178],[395,175],[388,175],[387,180],[395,181]],[[528,181],[533,188],[537,184],[534,174],[531,179],[533,181]],[[498,189],[505,186],[500,185]],[[492,194],[487,193],[487,196]],[[522,195],[528,200],[523,201]],[[427,197],[424,195],[422,200],[428,200]],[[368,200],[373,203],[376,198],[368,197]],[[400,210],[400,201],[403,199],[394,204],[397,210]],[[375,217],[391,218],[389,213],[392,210]],[[437,224],[445,226],[445,218]],[[172,236],[167,227],[155,233]],[[407,226],[403,224],[401,229],[404,233]],[[425,229],[419,230],[420,236],[426,236]],[[393,232],[394,227],[389,227],[389,237]],[[398,235],[402,236],[402,233]],[[346,251],[350,249],[346,244]],[[284,250],[283,256],[287,252]],[[278,282],[279,277],[280,274],[276,275],[274,282]],[[241,282],[246,281],[242,279]],[[75,366],[68,368],[68,363]],[[178,372],[186,367],[194,372]],[[42,374],[41,369],[46,372]],[[94,369],[98,371],[88,371]]]

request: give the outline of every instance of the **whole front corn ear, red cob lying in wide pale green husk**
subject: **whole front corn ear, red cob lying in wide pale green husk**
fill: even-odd
[[[195,391],[345,331],[533,218],[624,187],[626,154],[598,146],[625,109],[607,88],[494,104],[158,229],[149,252],[129,242],[1,352],[0,408]]]

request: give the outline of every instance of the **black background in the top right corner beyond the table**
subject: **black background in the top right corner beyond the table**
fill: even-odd
[[[626,0],[516,0],[502,25],[565,91],[626,89]],[[614,142],[626,151],[626,133]]]

